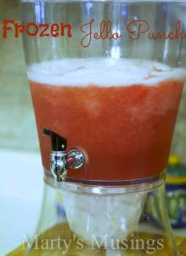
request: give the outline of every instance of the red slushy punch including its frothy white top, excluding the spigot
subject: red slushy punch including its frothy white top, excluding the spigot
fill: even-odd
[[[51,143],[42,135],[48,128],[65,137],[68,148],[80,147],[87,154],[87,165],[70,170],[68,177],[126,181],[163,172],[183,90],[183,69],[145,62],[141,70],[135,62],[123,60],[102,73],[97,61],[92,62],[83,66],[84,71],[81,63],[69,73],[61,69],[54,81],[53,76],[41,79],[44,73],[29,75],[43,166],[49,170]]]

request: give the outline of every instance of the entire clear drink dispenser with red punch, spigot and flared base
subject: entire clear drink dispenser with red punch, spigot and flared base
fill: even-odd
[[[33,0],[21,9],[25,25],[56,29],[23,38],[45,183],[41,247],[26,253],[47,255],[42,240],[60,238],[50,253],[178,255],[164,177],[186,78],[186,3]]]

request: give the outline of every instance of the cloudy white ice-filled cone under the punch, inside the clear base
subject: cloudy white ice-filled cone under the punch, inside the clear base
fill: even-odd
[[[83,195],[63,190],[62,195],[70,229],[91,246],[112,247],[137,230],[147,192]]]

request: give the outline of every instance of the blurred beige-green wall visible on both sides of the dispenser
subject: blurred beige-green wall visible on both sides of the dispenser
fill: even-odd
[[[0,17],[20,20],[19,3],[18,0],[0,0]],[[0,38],[0,104],[0,148],[39,150],[21,38]],[[186,162],[186,89],[179,109],[172,153],[180,154]]]

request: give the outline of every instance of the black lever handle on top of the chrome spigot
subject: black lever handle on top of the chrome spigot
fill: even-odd
[[[52,150],[53,151],[65,151],[67,148],[67,140],[65,137],[61,137],[54,131],[50,131],[46,128],[43,129],[43,134],[51,137]]]

